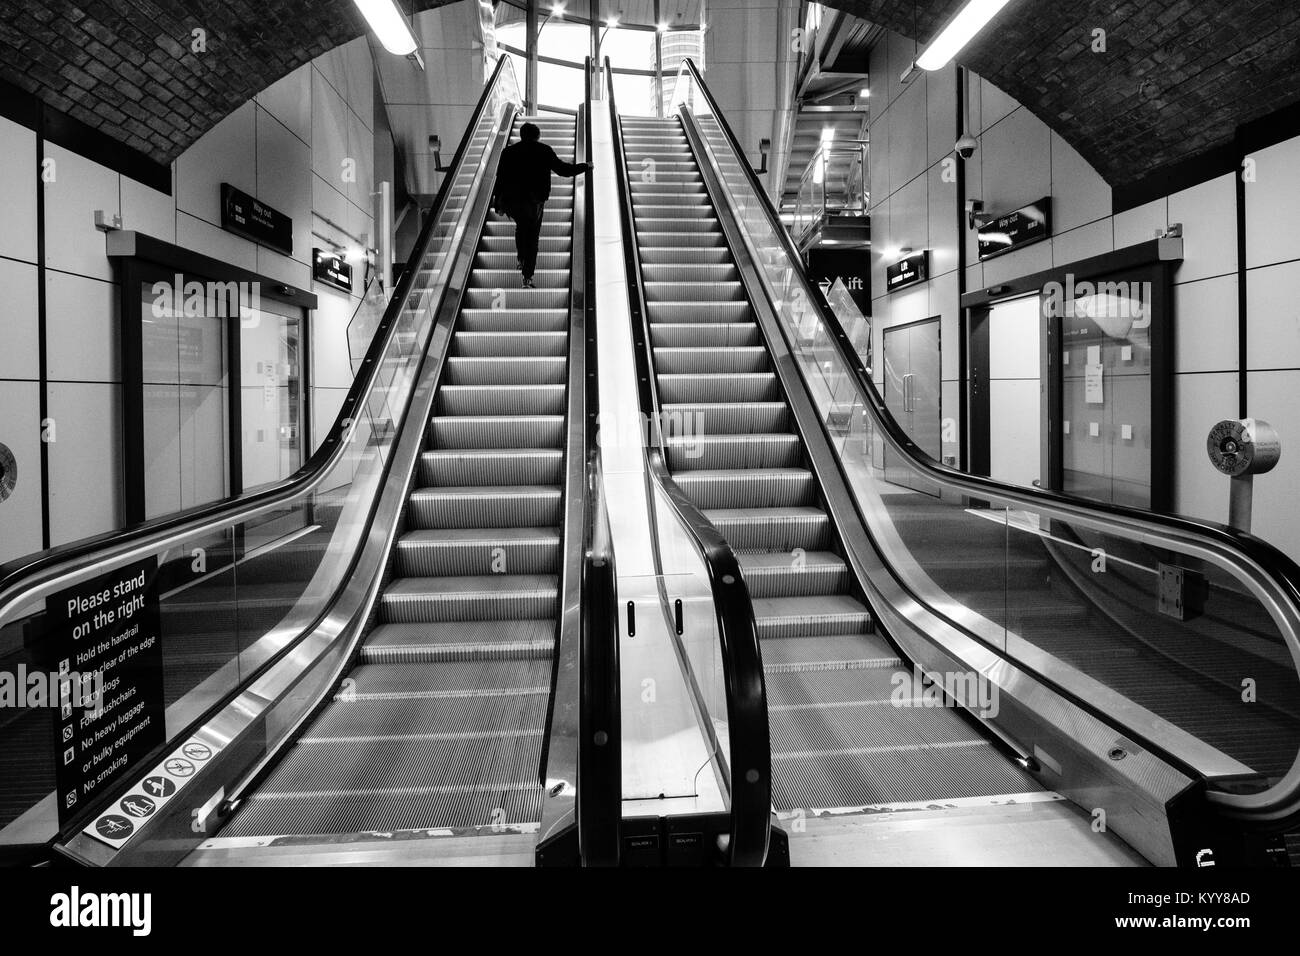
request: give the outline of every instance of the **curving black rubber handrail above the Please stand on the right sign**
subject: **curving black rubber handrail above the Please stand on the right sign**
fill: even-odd
[[[484,111],[488,108],[493,92],[497,88],[497,81],[500,78],[506,62],[507,60],[503,57],[497,64],[497,69],[493,70],[488,85],[484,87],[484,92],[478,98],[478,104],[474,107],[474,112],[469,118],[469,125],[465,127],[465,133],[460,138],[460,143],[456,146],[456,153],[450,166],[451,169],[459,168],[465,150],[469,147],[473,131],[477,129]],[[365,407],[365,401],[374,388],[376,378],[380,373],[380,365],[382,364],[381,359],[389,349],[396,328],[396,321],[402,315],[402,310],[406,308],[412,285],[420,272],[419,265],[424,260],[429,242],[433,238],[434,226],[441,219],[447,198],[451,194],[452,182],[454,177],[448,176],[438,189],[438,196],[420,230],[420,237],[416,239],[415,248],[402,276],[402,281],[398,282],[396,290],[384,312],[384,319],[380,321],[374,338],[370,341],[370,347],[367,350],[365,358],[361,360],[361,372],[356,376],[356,378],[354,378],[352,386],[348,389],[347,397],[343,399],[343,405],[339,408],[339,412],[334,419],[334,424],[330,427],[325,440],[311,455],[311,458],[307,459],[302,468],[287,479],[256,492],[240,494],[234,498],[225,498],[211,505],[204,505],[187,511],[172,514],[165,518],[144,522],[143,524],[138,524],[133,528],[110,531],[94,537],[82,538],[68,545],[40,551],[36,555],[18,558],[8,564],[0,564],[0,607],[3,607],[8,600],[16,594],[16,592],[22,589],[25,581],[48,572],[57,566],[74,563],[83,558],[100,554],[105,550],[125,551],[135,542],[140,542],[146,538],[168,537],[172,532],[186,533],[185,528],[190,525],[209,525],[214,522],[229,522],[235,524],[239,522],[239,515],[242,512],[250,511],[255,507],[273,506],[281,502],[291,501],[304,488],[309,486],[312,481],[326,468],[329,468],[334,463],[334,459],[342,454],[344,446],[343,437],[348,429],[352,428],[352,423]]]

